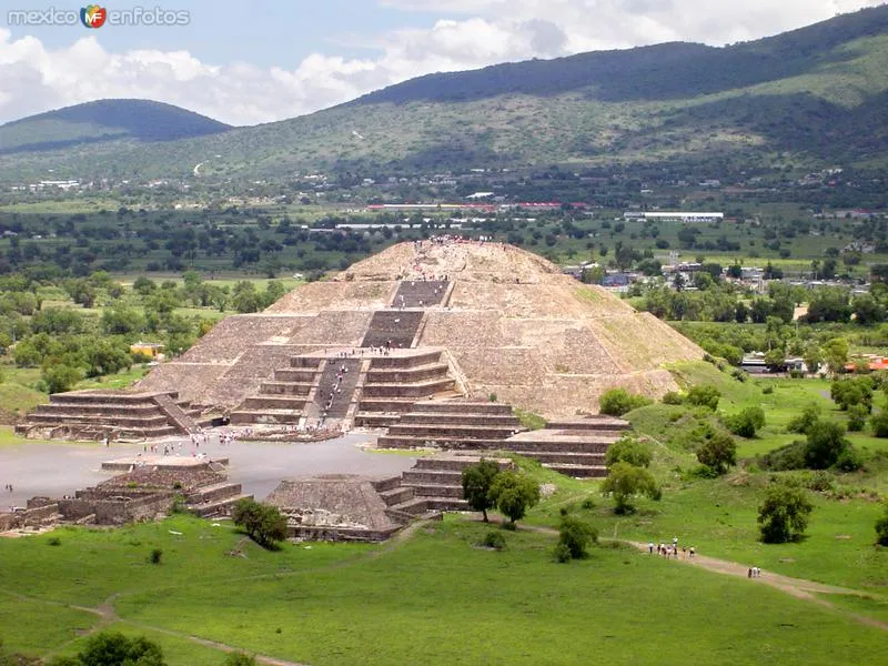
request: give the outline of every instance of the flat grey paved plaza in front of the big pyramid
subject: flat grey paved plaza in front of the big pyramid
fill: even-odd
[[[337,440],[312,443],[238,442],[221,446],[211,435],[209,446],[200,451],[211,457],[231,460],[229,478],[243,484],[244,492],[256,498],[268,495],[282,478],[316,474],[400,474],[413,466],[415,458],[403,455],[369,453],[357,445],[375,443],[375,435],[350,433]],[[164,440],[179,454],[179,440]],[[184,455],[191,454],[188,440]],[[11,483],[13,492],[0,488],[0,507],[24,506],[34,495],[72,495],[78,488],[95,485],[112,474],[100,470],[103,461],[132,456],[142,444],[36,444],[22,441],[18,446],[0,448],[0,486]]]

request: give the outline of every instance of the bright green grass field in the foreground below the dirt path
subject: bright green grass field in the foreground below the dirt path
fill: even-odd
[[[67,604],[114,595],[112,626],[158,638],[172,665],[221,663],[188,636],[313,665],[835,665],[884,649],[884,632],[745,579],[627,548],[559,565],[554,536],[507,533],[496,553],[476,546],[485,529],[450,516],[402,543],[279,553],[186,517],[7,539],[17,575],[0,585],[0,626],[10,649],[71,654],[100,618]],[[226,554],[239,544],[245,557]],[[147,562],[152,547],[162,564]]]

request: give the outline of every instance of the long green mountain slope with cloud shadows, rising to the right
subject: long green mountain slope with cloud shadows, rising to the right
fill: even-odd
[[[150,147],[4,160],[80,178],[274,176],[707,160],[884,165],[888,6],[725,48],[689,43],[431,74],[310,115]],[[208,161],[209,158],[209,161]]]

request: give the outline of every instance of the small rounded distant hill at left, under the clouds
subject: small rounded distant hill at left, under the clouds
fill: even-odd
[[[0,125],[0,154],[135,140],[204,137],[231,125],[150,100],[100,100],[29,115]]]

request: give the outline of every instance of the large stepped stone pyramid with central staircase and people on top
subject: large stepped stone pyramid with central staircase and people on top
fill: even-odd
[[[138,389],[174,391],[235,423],[335,412],[383,425],[417,400],[494,395],[564,418],[597,412],[615,386],[675,390],[664,364],[702,356],[653,315],[533,253],[436,239],[393,245],[262,313],[223,320]]]

